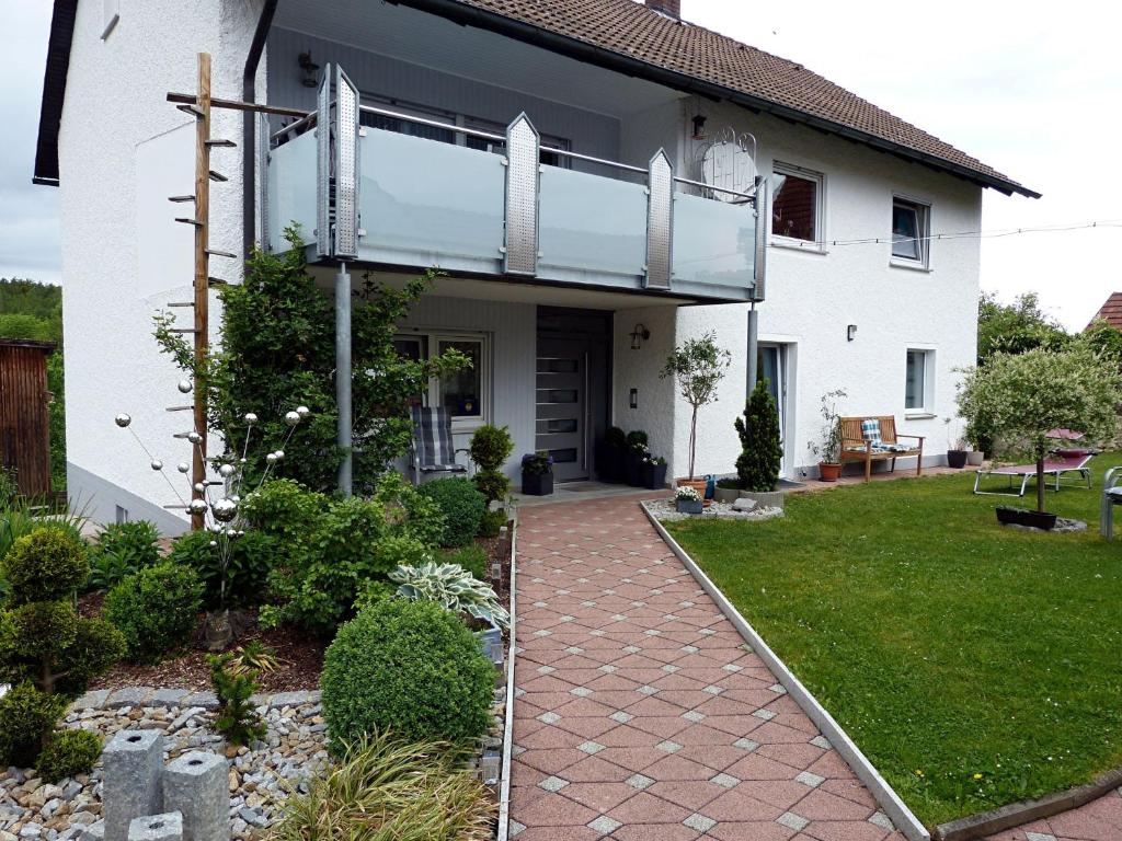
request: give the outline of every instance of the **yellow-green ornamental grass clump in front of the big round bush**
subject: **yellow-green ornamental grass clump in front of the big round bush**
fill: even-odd
[[[276,841],[395,839],[488,841],[494,802],[463,770],[459,751],[443,742],[401,742],[379,733],[349,746],[316,776],[307,794],[293,794],[273,830]]]

